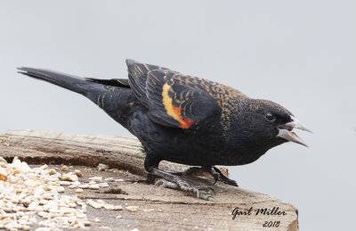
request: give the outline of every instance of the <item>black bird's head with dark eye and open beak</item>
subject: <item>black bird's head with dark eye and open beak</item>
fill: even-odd
[[[249,111],[253,112],[254,124],[258,128],[254,128],[259,137],[269,142],[270,144],[283,144],[288,141],[296,144],[308,146],[303,140],[292,130],[294,128],[312,132],[308,128],[303,127],[295,116],[282,107],[278,103],[273,103],[268,100],[254,99],[249,104]]]

